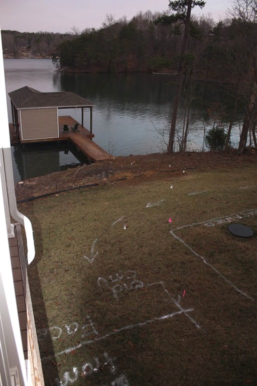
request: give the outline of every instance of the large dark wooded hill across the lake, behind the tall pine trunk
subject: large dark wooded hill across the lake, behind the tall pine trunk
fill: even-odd
[[[57,49],[56,64],[61,68],[81,72],[176,73],[180,58],[181,27],[179,23],[176,26],[160,23],[167,16],[168,12],[147,11],[138,13],[131,20],[125,17],[115,20],[112,15],[107,15],[98,30],[86,29],[72,41],[63,41]],[[197,54],[199,57],[213,27],[211,18],[192,19],[188,42],[192,55]],[[191,55],[188,60],[192,60]],[[211,75],[215,76],[215,72],[210,68],[209,77]]]

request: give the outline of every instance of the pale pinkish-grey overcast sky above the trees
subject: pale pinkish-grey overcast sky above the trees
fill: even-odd
[[[169,0],[1,0],[2,30],[20,32],[71,32],[99,28],[107,14],[117,20],[130,20],[140,11],[166,11]],[[194,8],[192,14],[211,14],[215,21],[224,19],[233,0],[207,0],[203,10]]]

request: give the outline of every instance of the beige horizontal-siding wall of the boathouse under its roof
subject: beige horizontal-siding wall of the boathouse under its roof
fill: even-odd
[[[21,110],[22,141],[58,138],[58,111],[56,108]]]

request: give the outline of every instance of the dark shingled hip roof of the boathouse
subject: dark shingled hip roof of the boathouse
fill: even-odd
[[[73,92],[41,92],[35,88],[24,86],[9,96],[16,109],[36,109],[46,107],[71,108],[92,107],[94,104]]]

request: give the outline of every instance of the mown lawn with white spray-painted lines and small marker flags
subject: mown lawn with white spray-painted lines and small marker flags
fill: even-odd
[[[257,384],[256,181],[186,170],[21,204],[46,386]]]

